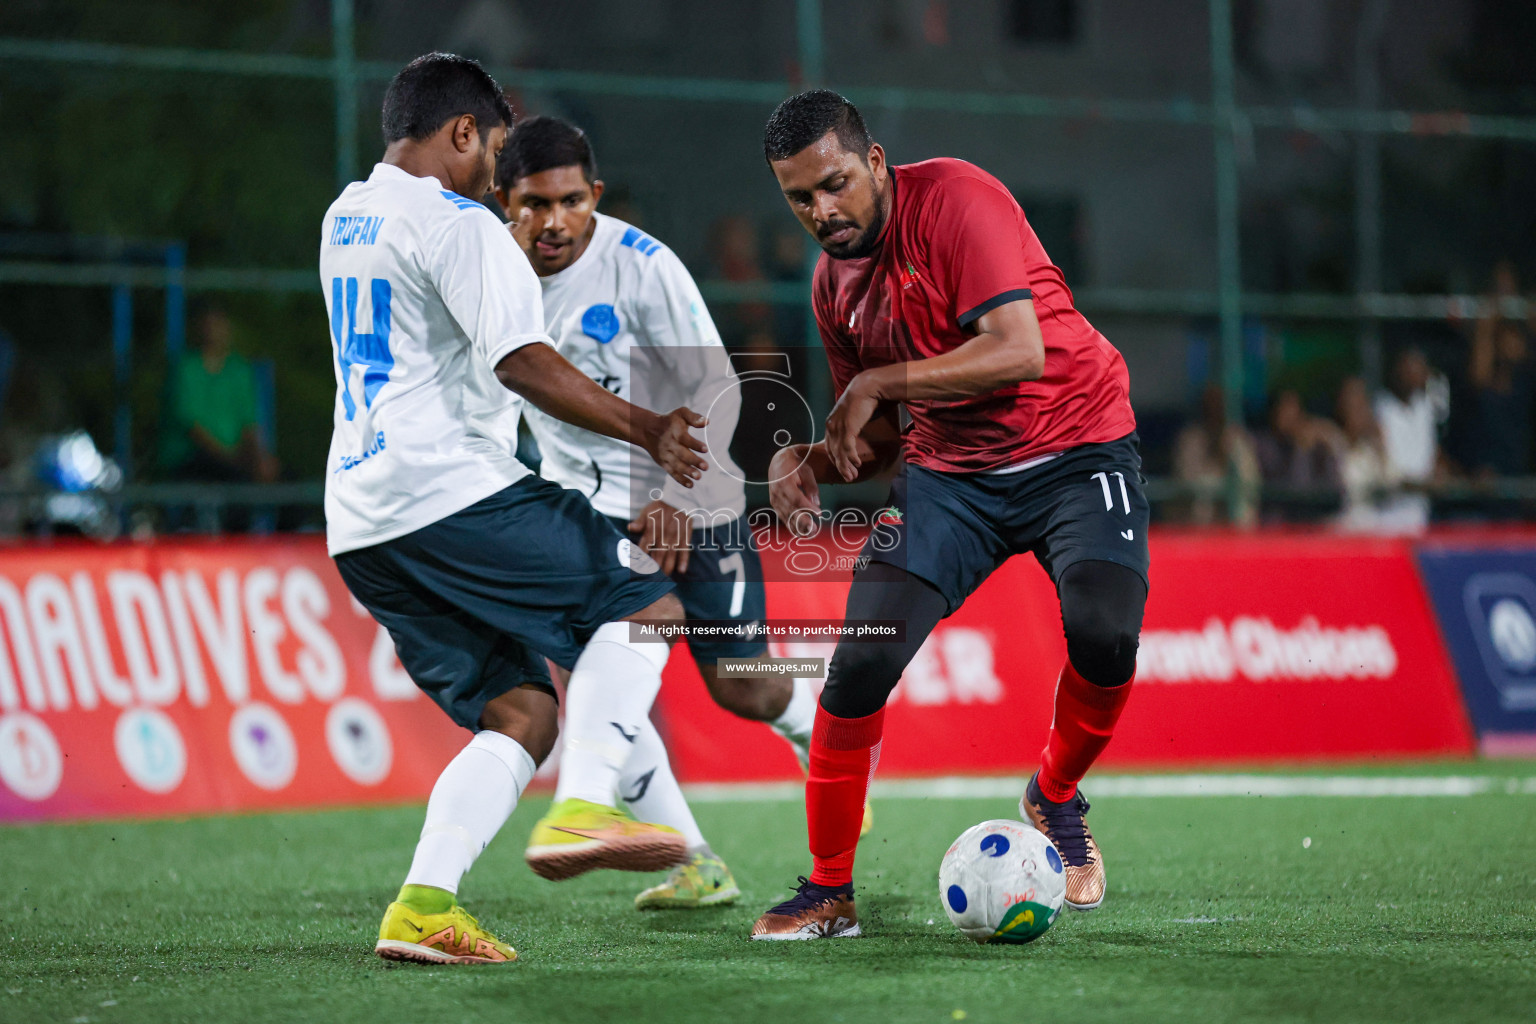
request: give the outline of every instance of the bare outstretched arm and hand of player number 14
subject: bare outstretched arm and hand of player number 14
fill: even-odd
[[[708,421],[691,408],[667,415],[631,405],[573,367],[544,342],[522,345],[496,364],[496,379],[550,416],[645,448],[656,465],[684,487],[710,468],[708,447],[688,433]]]

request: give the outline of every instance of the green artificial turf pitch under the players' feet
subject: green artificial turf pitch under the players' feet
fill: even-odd
[[[542,809],[521,806],[467,880],[522,956],[479,969],[372,955],[419,808],[3,827],[0,1019],[1536,1019],[1536,794],[1502,786],[1098,800],[1109,898],[1021,947],[963,940],[935,884],[948,843],[1009,801],[877,803],[866,938],[819,943],[745,938],[806,869],[796,803],[699,806],[745,895],[651,913],[630,909],[648,877],[528,872]]]

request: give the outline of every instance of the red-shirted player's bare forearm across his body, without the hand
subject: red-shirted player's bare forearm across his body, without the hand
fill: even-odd
[[[885,402],[960,399],[1035,381],[1044,373],[1044,339],[1031,299],[1006,302],[977,321],[977,335],[926,359],[865,370],[856,384]]]

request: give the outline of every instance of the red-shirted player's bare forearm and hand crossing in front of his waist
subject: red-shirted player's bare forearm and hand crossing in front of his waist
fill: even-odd
[[[926,359],[863,370],[826,418],[826,457],[845,481],[860,479],[860,434],[882,402],[975,398],[1044,373],[1046,347],[1034,299],[988,310],[975,336],[958,348]]]

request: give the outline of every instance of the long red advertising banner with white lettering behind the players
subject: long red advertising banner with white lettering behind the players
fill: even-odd
[[[848,567],[797,576],[791,557],[765,553],[770,619],[839,622]],[[1498,633],[1519,640],[1519,625]],[[777,637],[771,652],[833,646]],[[908,666],[882,774],[1031,771],[1064,652],[1049,580],[1011,560]],[[406,677],[318,537],[0,550],[0,820],[421,800],[468,738]],[[766,725],[714,706],[685,651],[665,679],[654,717],[679,777],[799,777]],[[1499,692],[1522,700],[1511,679]],[[1154,537],[1135,686],[1107,765],[1473,746],[1401,542]]]

